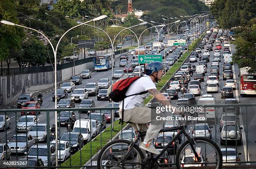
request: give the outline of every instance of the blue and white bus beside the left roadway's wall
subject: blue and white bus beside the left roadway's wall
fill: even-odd
[[[111,53],[106,53],[104,55],[95,56],[93,58],[94,69],[98,70],[108,70],[112,68]],[[113,53],[113,66],[115,67],[115,53]]]

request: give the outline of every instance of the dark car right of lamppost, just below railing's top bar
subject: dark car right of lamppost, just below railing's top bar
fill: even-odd
[[[61,111],[57,117],[57,125],[67,126],[68,124],[74,124],[76,121],[76,114],[74,111]]]

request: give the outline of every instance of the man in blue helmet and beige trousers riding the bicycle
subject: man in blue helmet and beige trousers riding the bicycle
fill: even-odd
[[[164,75],[163,65],[161,62],[152,62],[148,63],[145,68],[146,74],[134,81],[131,86],[129,86],[125,95],[129,96],[136,93],[141,93],[143,91],[148,91],[152,96],[160,101],[163,106],[172,106],[170,101],[165,98],[165,96],[160,93],[155,86],[159,80],[161,80]],[[149,151],[154,154],[160,154],[159,151],[153,146],[152,139],[156,138],[159,134],[159,131],[162,129],[164,121],[159,122],[155,125],[148,124],[151,123],[151,108],[142,107],[144,99],[148,97],[148,93],[129,96],[124,99],[124,112],[123,112],[123,121],[128,122],[133,126],[137,131],[146,131],[146,136],[143,142],[140,143],[139,147],[146,151]],[[122,105],[121,101],[119,106],[119,116],[122,117]],[[177,112],[175,112],[177,114]],[[138,124],[139,129],[135,124]]]

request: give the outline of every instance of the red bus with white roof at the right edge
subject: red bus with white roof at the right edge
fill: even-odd
[[[240,96],[256,94],[256,74],[249,74],[248,67],[240,69]]]

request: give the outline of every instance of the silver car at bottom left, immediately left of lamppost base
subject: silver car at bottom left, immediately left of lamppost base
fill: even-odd
[[[55,165],[55,146],[51,145],[48,147],[48,144],[35,144],[33,145],[28,153],[24,152],[28,158],[41,158],[44,162],[44,166]],[[48,155],[50,157],[50,161],[48,161]]]

